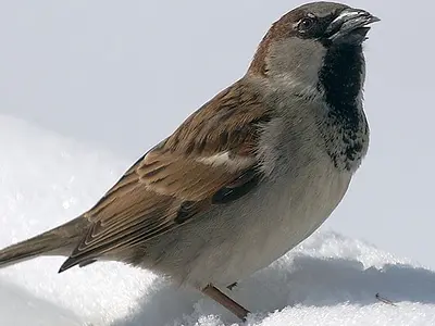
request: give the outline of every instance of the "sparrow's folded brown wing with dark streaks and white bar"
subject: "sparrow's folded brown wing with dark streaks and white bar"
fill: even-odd
[[[223,90],[85,213],[90,227],[61,272],[161,236],[249,192],[261,178],[256,149],[270,118],[259,95],[240,82]]]

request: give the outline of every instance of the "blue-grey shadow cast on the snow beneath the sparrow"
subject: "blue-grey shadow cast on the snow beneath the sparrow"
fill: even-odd
[[[291,264],[279,260],[241,281],[229,296],[251,312],[266,316],[285,306],[368,305],[380,302],[376,293],[401,301],[435,303],[435,273],[407,264],[364,268],[350,259],[297,255]],[[195,325],[201,315],[219,315],[222,323],[238,321],[200,293],[158,280],[138,309],[111,326]]]

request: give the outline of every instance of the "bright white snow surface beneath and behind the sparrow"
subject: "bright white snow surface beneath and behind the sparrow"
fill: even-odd
[[[129,164],[1,115],[0,149],[0,247],[90,208]],[[98,263],[58,274],[61,262],[41,258],[0,271],[0,325],[238,323],[149,272]],[[314,234],[231,296],[252,311],[246,325],[435,325],[435,272],[335,233]]]

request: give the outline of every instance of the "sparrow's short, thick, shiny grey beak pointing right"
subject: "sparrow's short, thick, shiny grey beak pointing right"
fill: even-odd
[[[378,21],[378,17],[364,10],[348,8],[331,22],[326,35],[333,42],[361,43],[370,30],[369,25]]]

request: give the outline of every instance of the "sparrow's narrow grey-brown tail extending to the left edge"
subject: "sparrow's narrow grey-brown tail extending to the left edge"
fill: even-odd
[[[0,250],[0,268],[40,255],[69,256],[88,225],[87,218],[78,216],[34,238],[4,248]]]

